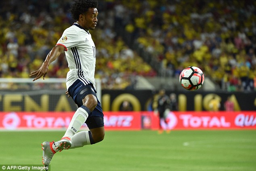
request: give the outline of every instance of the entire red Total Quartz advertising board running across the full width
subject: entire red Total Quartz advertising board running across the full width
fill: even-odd
[[[66,129],[74,112],[0,112],[0,130]],[[160,119],[149,111],[104,112],[106,130],[256,129],[256,111],[169,112]],[[86,124],[83,129],[86,129]]]

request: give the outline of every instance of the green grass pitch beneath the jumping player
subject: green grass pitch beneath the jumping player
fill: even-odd
[[[0,164],[41,164],[41,142],[63,134],[0,132]],[[58,152],[50,170],[256,171],[256,130],[106,131],[98,144]]]

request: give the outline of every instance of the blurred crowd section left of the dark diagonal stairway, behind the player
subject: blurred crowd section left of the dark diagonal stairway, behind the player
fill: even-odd
[[[50,48],[75,21],[69,14],[71,1],[13,0],[0,2],[0,77],[29,78],[40,67]],[[136,75],[156,72],[114,32],[113,11],[99,2],[99,23],[91,31],[97,47],[96,78],[103,89],[125,89]],[[50,65],[50,78],[65,78],[69,68],[65,53]]]

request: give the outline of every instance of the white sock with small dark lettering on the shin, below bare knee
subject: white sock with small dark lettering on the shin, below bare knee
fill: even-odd
[[[63,137],[72,138],[78,132],[88,117],[88,113],[82,107],[79,107],[73,115],[69,127]]]

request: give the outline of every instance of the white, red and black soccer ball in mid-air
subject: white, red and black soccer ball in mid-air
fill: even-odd
[[[204,84],[204,73],[200,68],[189,66],[181,71],[180,84],[187,90],[197,90]]]

